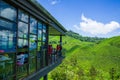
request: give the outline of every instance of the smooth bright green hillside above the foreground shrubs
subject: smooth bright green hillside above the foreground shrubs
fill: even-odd
[[[57,38],[52,37],[51,39],[56,40]],[[106,79],[111,68],[120,71],[120,37],[113,37],[95,44],[65,36],[63,42],[66,42],[63,46],[66,50],[66,59],[63,64],[71,59],[76,59],[77,65],[84,69],[85,73],[88,73],[90,67],[94,66],[104,77],[107,76]],[[77,67],[76,65],[71,66],[69,62],[67,62],[67,66],[72,69]],[[118,72],[118,74],[120,73]]]

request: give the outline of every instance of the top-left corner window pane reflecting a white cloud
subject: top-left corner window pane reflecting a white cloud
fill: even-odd
[[[16,21],[16,9],[4,1],[0,1],[0,16]]]

